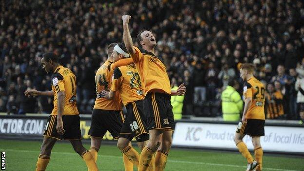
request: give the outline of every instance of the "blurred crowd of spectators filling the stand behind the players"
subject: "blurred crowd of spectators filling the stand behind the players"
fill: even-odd
[[[280,118],[299,119],[301,106],[304,110],[301,0],[2,1],[0,111],[51,112],[52,99],[25,98],[24,91],[50,90],[41,55],[55,52],[76,75],[78,109],[91,114],[95,72],[106,60],[107,44],[122,41],[123,14],[132,16],[133,42],[141,29],[151,30],[170,79],[185,83],[184,115],[220,116],[223,87],[234,81],[241,94],[238,66],[249,62],[267,91],[282,95],[276,100],[284,107]]]

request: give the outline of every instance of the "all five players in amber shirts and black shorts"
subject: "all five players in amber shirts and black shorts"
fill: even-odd
[[[76,76],[59,64],[57,55],[46,53],[42,68],[52,73],[52,91],[27,90],[28,97],[54,96],[54,109],[44,130],[44,139],[36,164],[36,171],[45,171],[51,150],[59,140],[69,140],[85,161],[88,171],[98,171],[97,153],[104,134],[109,131],[118,139],[125,171],[164,171],[171,148],[175,123],[170,99],[172,95],[185,95],[181,84],[171,90],[166,66],[155,55],[156,39],[149,30],[137,34],[138,47],[133,46],[129,31],[131,16],[123,15],[123,42],[108,45],[107,60],[95,76],[96,100],[89,130],[91,147],[86,150],[81,142],[80,118],[76,107]],[[264,86],[252,76],[252,65],[241,66],[244,79],[245,109],[242,122],[235,135],[235,143],[247,158],[247,171],[262,170],[260,136],[264,135]],[[92,84],[94,84],[92,82]],[[127,113],[122,113],[125,106]],[[253,137],[255,159],[242,139]],[[131,145],[135,138],[141,152]]]

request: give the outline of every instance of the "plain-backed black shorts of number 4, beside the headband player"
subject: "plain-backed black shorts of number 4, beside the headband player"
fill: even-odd
[[[93,109],[88,135],[95,138],[103,138],[105,133],[109,131],[112,137],[117,139],[124,120],[121,110]]]

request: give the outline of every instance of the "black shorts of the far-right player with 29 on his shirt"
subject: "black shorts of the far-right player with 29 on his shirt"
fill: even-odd
[[[247,124],[239,122],[236,132],[249,136],[264,136],[265,120],[247,119]]]

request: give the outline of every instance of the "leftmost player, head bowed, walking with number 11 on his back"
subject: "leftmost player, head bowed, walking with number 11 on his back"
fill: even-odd
[[[98,171],[91,153],[81,142],[80,117],[76,106],[76,77],[72,71],[59,64],[54,53],[46,53],[41,59],[42,68],[52,74],[52,91],[25,91],[25,96],[54,96],[54,109],[44,129],[44,138],[36,164],[36,171],[45,171],[51,151],[57,139],[69,140],[75,150],[86,162],[89,171]]]

